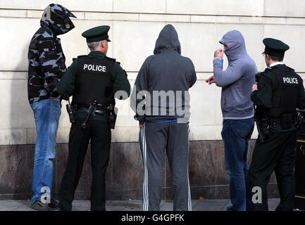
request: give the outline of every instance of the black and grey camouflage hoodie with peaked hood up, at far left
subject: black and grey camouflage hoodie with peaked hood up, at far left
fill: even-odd
[[[66,58],[57,35],[75,27],[69,17],[75,18],[75,15],[58,4],[50,4],[42,14],[41,27],[32,37],[27,55],[27,95],[30,103],[50,97],[60,98],[56,84],[66,72]]]

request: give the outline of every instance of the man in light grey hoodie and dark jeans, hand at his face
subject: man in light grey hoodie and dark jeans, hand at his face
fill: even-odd
[[[214,53],[214,75],[206,80],[222,87],[221,110],[225,146],[225,170],[230,179],[230,205],[228,211],[251,210],[251,190],[247,165],[248,142],[254,129],[251,86],[257,73],[254,60],[247,53],[244,37],[237,30],[227,32],[220,40],[224,49]],[[223,53],[228,68],[223,70]]]

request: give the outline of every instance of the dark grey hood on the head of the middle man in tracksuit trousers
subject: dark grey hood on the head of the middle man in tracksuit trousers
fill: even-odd
[[[178,39],[178,34],[175,30],[175,27],[170,24],[163,27],[158,36],[158,39],[156,39],[154,54],[161,53],[166,49],[173,49],[181,54],[181,46]]]

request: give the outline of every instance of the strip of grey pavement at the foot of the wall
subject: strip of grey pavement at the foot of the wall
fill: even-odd
[[[279,198],[268,200],[269,211],[274,211],[280,203]],[[90,200],[74,200],[73,211],[89,211]],[[193,211],[225,211],[230,205],[229,199],[192,200]],[[173,211],[173,200],[162,200],[161,211]],[[35,211],[30,200],[0,200],[0,211]],[[106,211],[142,211],[142,200],[107,200]]]

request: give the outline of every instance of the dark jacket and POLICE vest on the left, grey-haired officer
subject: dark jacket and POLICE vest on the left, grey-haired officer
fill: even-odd
[[[130,83],[125,70],[115,59],[108,58],[101,51],[92,51],[88,56],[78,56],[73,60],[58,82],[57,90],[63,97],[73,96],[72,104],[77,107],[87,108],[95,99],[106,107],[109,103],[115,103],[114,97],[128,98]],[[75,117],[84,118],[86,115],[80,110]],[[94,116],[94,119],[106,122],[106,118],[99,115]]]

